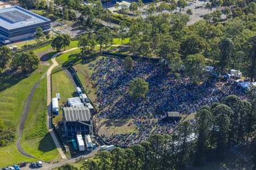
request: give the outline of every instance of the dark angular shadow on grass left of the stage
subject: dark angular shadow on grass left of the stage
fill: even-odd
[[[52,141],[51,134],[47,133],[43,139],[39,142],[38,150],[42,152],[48,152],[55,150],[55,143]]]

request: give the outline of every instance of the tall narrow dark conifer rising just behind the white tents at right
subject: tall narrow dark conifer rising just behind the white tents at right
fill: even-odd
[[[229,38],[224,38],[219,42],[220,48],[220,73],[224,73],[224,69],[229,65],[234,52],[234,43]]]

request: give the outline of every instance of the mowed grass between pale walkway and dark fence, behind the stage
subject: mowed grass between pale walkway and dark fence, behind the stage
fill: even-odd
[[[66,103],[68,98],[78,96],[75,87],[64,71],[52,74],[52,97],[55,97],[57,92],[60,93],[59,106],[62,105],[62,103]],[[60,111],[59,115],[53,118],[53,123],[57,124],[61,121],[61,113],[62,111]]]

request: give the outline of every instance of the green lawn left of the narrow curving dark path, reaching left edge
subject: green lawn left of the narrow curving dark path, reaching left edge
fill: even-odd
[[[0,77],[0,118],[5,122],[7,129],[14,129],[15,136],[27,97],[34,84],[46,72],[47,68],[47,66],[39,66],[30,75],[25,73],[17,75],[4,74]],[[0,147],[0,167],[23,160],[31,159],[19,153],[16,149],[16,142],[10,143],[7,147]]]

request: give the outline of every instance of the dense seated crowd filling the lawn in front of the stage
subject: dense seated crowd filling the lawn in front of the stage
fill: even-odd
[[[105,137],[115,145],[133,145],[155,133],[170,134],[177,123],[162,121],[167,112],[190,114],[232,94],[246,98],[244,90],[236,84],[212,78],[195,85],[183,74],[179,78],[163,74],[158,63],[134,61],[133,70],[126,72],[121,59],[102,58],[94,69],[97,71],[92,74],[92,79],[98,86],[97,101],[101,109],[98,117],[129,117],[137,126],[136,133]],[[130,80],[138,77],[146,79],[149,90],[145,99],[135,102],[127,88]]]

